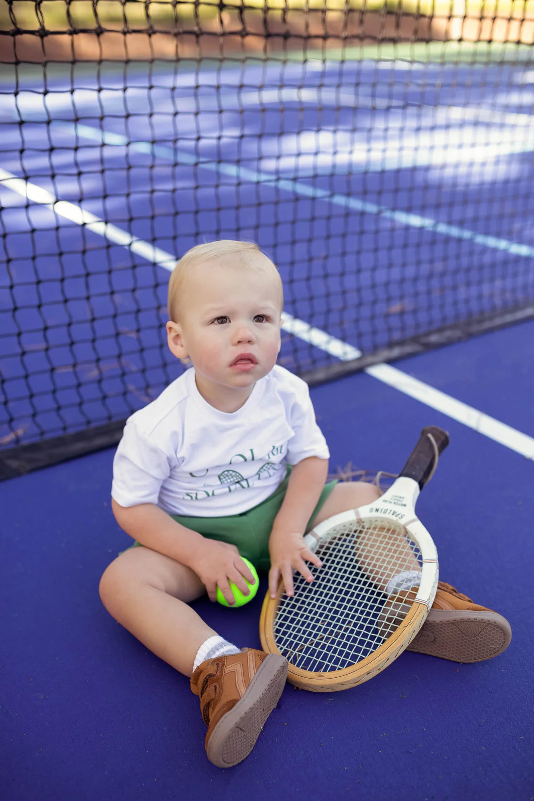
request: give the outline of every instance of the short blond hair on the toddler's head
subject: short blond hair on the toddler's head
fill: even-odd
[[[167,311],[169,313],[169,320],[173,323],[179,321],[181,312],[180,298],[183,295],[183,288],[186,284],[187,275],[191,269],[195,268],[197,264],[205,264],[207,261],[215,261],[232,256],[235,262],[234,266],[258,271],[258,264],[255,264],[255,256],[264,256],[272,269],[275,271],[279,280],[280,289],[280,302],[283,302],[283,289],[282,281],[280,280],[279,272],[275,264],[265,256],[259,245],[255,242],[239,242],[236,239],[219,239],[217,242],[207,242],[206,244],[195,245],[184,253],[182,258],[176,264],[175,269],[171,272],[169,279],[169,287],[167,290]]]

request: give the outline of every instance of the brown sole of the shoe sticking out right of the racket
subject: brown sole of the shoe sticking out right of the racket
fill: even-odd
[[[508,648],[512,630],[496,612],[431,610],[409,651],[452,662],[482,662]]]

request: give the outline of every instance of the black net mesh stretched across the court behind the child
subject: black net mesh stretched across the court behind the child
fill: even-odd
[[[169,270],[252,239],[310,384],[534,314],[528,2],[0,6],[0,477],[187,365]]]

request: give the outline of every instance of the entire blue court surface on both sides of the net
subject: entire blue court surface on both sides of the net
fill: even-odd
[[[314,345],[288,318],[288,368],[532,299],[534,74],[520,63],[251,58],[138,64],[126,83],[116,66],[50,65],[46,85],[21,67],[0,88],[0,440],[8,417],[34,441],[157,396],[179,372],[168,270],[204,239],[254,239],[279,265],[286,312],[319,329]],[[0,483],[2,801],[532,801],[533,341],[531,321],[395,365],[446,412],[402,376],[311,389],[332,473],[396,473],[424,425],[449,431],[418,513],[440,578],[510,621],[508,650],[472,665],[406,653],[334,694],[287,686],[231,770],[207,761],[188,680],[98,598],[129,545],[110,512],[114,450]],[[258,647],[265,589],[241,610],[195,608]]]

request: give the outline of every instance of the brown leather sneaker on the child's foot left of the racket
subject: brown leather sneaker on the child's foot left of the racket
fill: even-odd
[[[255,648],[201,662],[191,676],[191,690],[200,696],[210,762],[232,767],[250,754],[286,677],[286,659]]]

